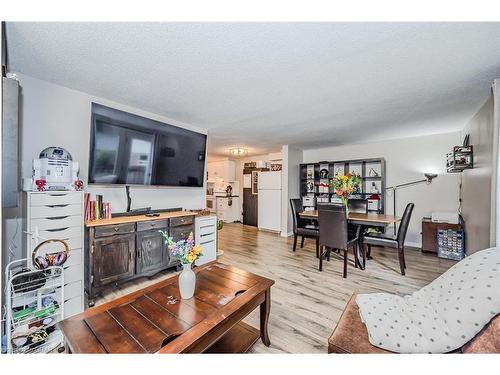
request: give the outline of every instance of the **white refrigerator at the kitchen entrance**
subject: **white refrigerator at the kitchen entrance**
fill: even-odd
[[[259,172],[257,188],[259,229],[281,231],[281,172]]]

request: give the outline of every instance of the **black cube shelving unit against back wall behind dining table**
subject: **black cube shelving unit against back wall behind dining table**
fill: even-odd
[[[327,169],[327,178],[324,178],[325,172],[322,169]],[[371,172],[373,169],[377,176]],[[354,172],[361,176],[360,191],[356,192],[350,198],[351,201],[366,204],[368,212],[383,214],[385,213],[385,159],[372,158],[372,159],[353,159],[353,160],[337,160],[337,161],[320,161],[316,163],[304,163],[299,166],[300,174],[300,196],[309,197],[314,201],[314,207],[317,206],[318,201],[330,202],[335,192],[331,191],[329,187],[325,187],[329,180],[337,173],[347,174]],[[323,178],[322,178],[323,177]],[[378,190],[379,207],[378,210],[368,209],[368,198],[373,195],[370,192],[372,184],[375,184]]]

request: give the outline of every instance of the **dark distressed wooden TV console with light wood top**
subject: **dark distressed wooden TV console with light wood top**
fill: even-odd
[[[87,223],[85,289],[89,306],[93,306],[95,296],[106,288],[153,276],[180,264],[169,253],[159,230],[169,233],[174,241],[187,239],[195,232],[194,214],[167,216],[147,220],[145,216],[120,217],[106,220],[105,225]]]

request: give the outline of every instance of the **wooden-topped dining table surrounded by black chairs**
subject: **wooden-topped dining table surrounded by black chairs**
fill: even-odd
[[[303,219],[318,220],[318,210],[304,210],[299,212],[299,216]],[[353,225],[361,226],[361,236],[358,242],[361,254],[358,252],[358,256],[355,261],[358,263],[361,269],[365,268],[365,249],[363,246],[363,233],[368,228],[385,228],[388,225],[396,224],[401,221],[399,216],[378,214],[376,212],[349,212],[347,214],[347,222]],[[361,258],[360,258],[361,256]]]

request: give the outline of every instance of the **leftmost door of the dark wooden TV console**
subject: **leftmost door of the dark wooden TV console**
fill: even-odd
[[[134,234],[96,239],[93,256],[93,285],[103,286],[133,276],[134,255]]]

